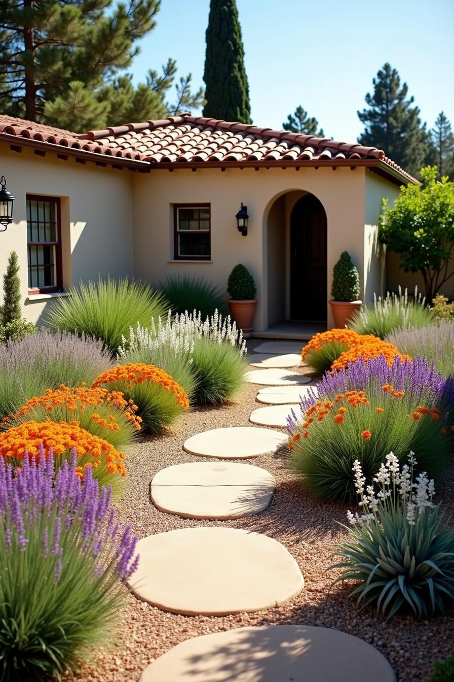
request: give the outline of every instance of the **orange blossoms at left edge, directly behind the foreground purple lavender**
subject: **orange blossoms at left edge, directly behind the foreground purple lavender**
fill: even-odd
[[[75,447],[79,457],[86,454],[93,457],[93,469],[106,464],[108,473],[126,475],[123,453],[102,438],[80,428],[77,421],[67,424],[66,421],[56,422],[51,419],[42,422],[31,420],[0,433],[0,456],[5,458],[22,461],[26,452],[37,458],[39,445],[43,445],[46,454],[52,448],[55,455],[65,454]],[[83,477],[84,467],[78,466],[77,473]]]

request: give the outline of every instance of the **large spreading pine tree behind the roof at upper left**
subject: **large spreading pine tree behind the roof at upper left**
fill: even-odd
[[[161,0],[3,0],[0,3],[0,110],[76,132],[161,118],[176,77],[169,59],[133,86],[125,74],[152,31]],[[186,79],[191,80],[191,76]],[[178,110],[203,103],[189,86]]]

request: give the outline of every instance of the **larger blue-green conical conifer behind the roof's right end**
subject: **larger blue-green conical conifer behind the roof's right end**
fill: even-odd
[[[374,93],[366,95],[370,107],[357,112],[365,130],[361,145],[378,147],[412,175],[419,173],[429,148],[429,135],[421,125],[419,108],[407,98],[408,85],[400,83],[398,72],[389,63],[372,80]]]

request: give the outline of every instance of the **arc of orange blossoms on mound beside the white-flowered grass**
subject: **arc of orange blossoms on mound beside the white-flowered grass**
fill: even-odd
[[[161,370],[155,365],[146,365],[142,363],[128,362],[126,365],[118,365],[112,370],[99,374],[97,379],[93,382],[93,388],[101,384],[110,384],[115,381],[125,381],[128,388],[133,384],[140,384],[144,381],[152,381],[152,383],[160,384],[166,391],[172,391],[175,395],[176,402],[182,406],[184,410],[189,408],[189,400],[186,391],[179,383],[172,379],[170,374]]]

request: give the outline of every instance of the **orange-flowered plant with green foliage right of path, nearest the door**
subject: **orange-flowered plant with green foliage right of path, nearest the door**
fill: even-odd
[[[393,344],[382,341],[372,334],[359,334],[353,329],[329,329],[315,334],[302,349],[302,359],[320,374],[328,370],[341,370],[363,357],[365,362],[372,357],[385,356],[389,366],[394,358],[410,359],[402,355]]]

